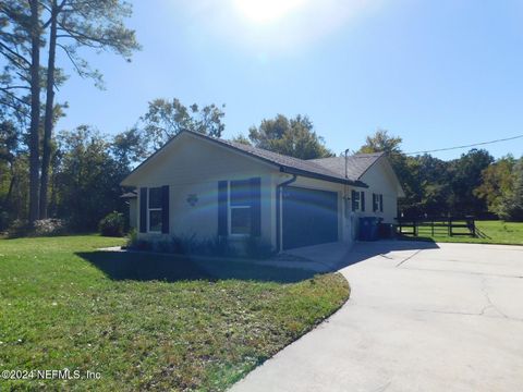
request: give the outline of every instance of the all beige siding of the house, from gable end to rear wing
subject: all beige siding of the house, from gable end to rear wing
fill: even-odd
[[[147,164],[131,174],[123,185],[138,188],[138,199],[134,206],[137,228],[139,228],[139,213],[137,213],[139,187],[169,185],[169,235],[195,236],[205,240],[218,234],[218,182],[251,177],[262,179],[262,237],[276,247],[277,186],[292,179],[292,175],[280,173],[279,168],[272,164],[217,145],[211,140],[182,134],[172,145],[160,150]],[[397,183],[393,175],[390,175],[390,167],[385,160],[372,167],[362,181],[368,184],[369,188],[354,189],[365,192],[365,212],[352,211],[350,196],[353,188],[350,186],[303,176],[297,176],[292,185],[336,192],[339,212],[338,240],[351,243],[356,237],[360,217],[377,216],[382,217],[385,222],[393,222],[397,215]],[[373,193],[384,195],[382,213],[373,212]],[[194,206],[187,200],[193,195],[197,198]],[[282,219],[281,215],[280,219]],[[168,240],[169,235],[139,233],[142,238],[149,240]],[[280,240],[282,241],[281,237]],[[243,238],[239,237],[240,241]]]

